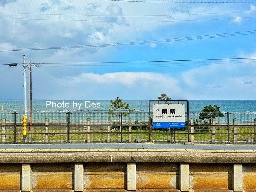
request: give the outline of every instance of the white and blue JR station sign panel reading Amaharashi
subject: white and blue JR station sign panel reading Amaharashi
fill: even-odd
[[[185,127],[184,104],[153,104],[153,128]]]

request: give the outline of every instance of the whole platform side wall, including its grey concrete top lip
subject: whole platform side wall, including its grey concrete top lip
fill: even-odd
[[[0,154],[0,191],[256,191],[256,153]]]

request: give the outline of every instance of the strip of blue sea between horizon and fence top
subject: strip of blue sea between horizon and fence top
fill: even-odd
[[[148,112],[148,100],[123,100],[137,112]],[[151,102],[156,103],[156,102]],[[171,102],[177,103],[177,102]],[[186,102],[180,102],[185,103]],[[206,105],[217,105],[221,112],[256,112],[256,100],[189,100],[189,112],[201,112]],[[24,111],[23,101],[0,101],[0,110],[3,112]],[[186,107],[187,108],[187,107]],[[38,111],[107,111],[110,109],[110,100],[77,100],[33,101],[32,110]],[[29,102],[27,102],[29,110]],[[151,105],[152,110],[152,105]]]

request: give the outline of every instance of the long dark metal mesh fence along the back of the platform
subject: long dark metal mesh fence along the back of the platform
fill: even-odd
[[[0,112],[2,143],[255,143],[256,113],[189,113],[185,128],[152,128],[148,112],[37,112],[27,122],[23,140],[22,113]],[[211,114],[214,117],[214,114]],[[186,115],[185,115],[186,116]],[[152,114],[150,114],[152,117]],[[208,118],[208,119],[207,119]],[[28,117],[29,119],[29,117]]]

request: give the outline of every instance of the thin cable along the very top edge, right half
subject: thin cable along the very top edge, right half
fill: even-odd
[[[142,2],[142,3],[255,3],[254,1],[241,1],[241,2],[216,2],[216,1],[212,1],[212,2],[189,2],[189,1],[140,1],[140,0],[105,0],[105,1],[120,1],[120,2]]]

